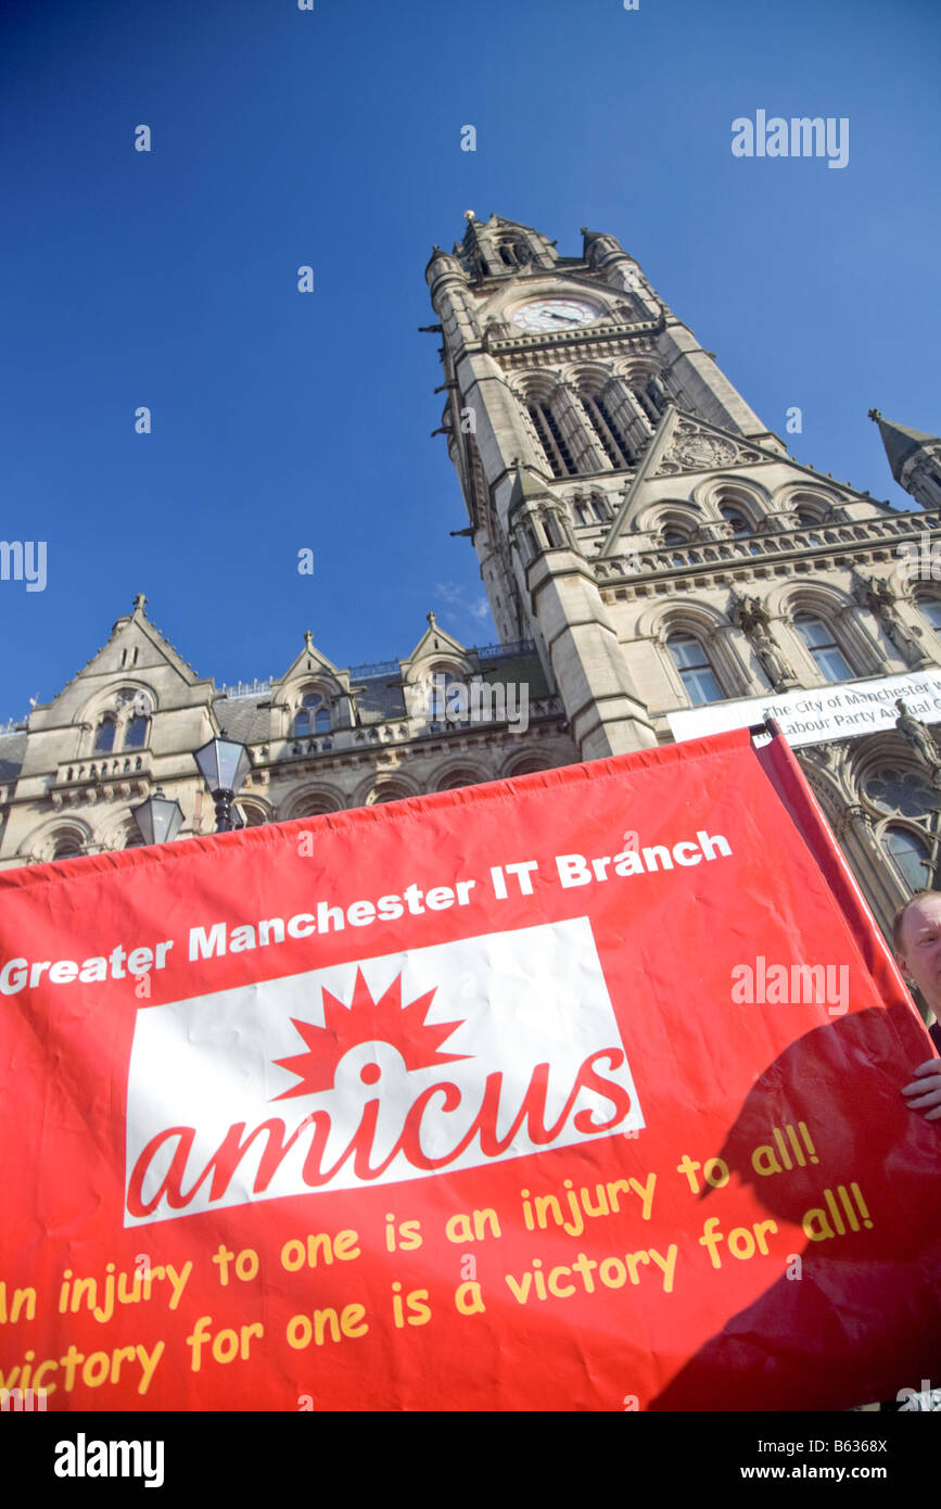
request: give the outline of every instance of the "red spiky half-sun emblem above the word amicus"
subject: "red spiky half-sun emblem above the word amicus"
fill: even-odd
[[[317,1026],[314,1022],[299,1022],[297,1017],[291,1017],[291,1023],[308,1044],[308,1052],[274,1059],[279,1068],[297,1074],[300,1083],[273,1099],[290,1100],[293,1096],[314,1096],[321,1089],[333,1089],[336,1065],[344,1053],[360,1043],[389,1043],[398,1049],[410,1070],[472,1058],[470,1053],[442,1052],[442,1043],[461,1025],[460,1022],[425,1022],[436,988],[403,1007],[401,975],[397,975],[389,988],[374,1000],[362,969],[356,970],[350,1005],[321,987],[324,1025]],[[374,1085],[379,1076],[379,1064],[363,1064],[360,1077],[366,1085]]]

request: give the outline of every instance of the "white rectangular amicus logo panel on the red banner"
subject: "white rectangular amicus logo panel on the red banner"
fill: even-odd
[[[644,1126],[587,917],[145,1007],[125,1225]]]

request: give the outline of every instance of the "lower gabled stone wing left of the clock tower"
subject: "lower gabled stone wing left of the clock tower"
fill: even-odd
[[[525,720],[501,717],[505,682],[525,687]],[[477,717],[454,715],[451,684],[480,688]],[[139,596],[53,702],[0,732],[0,869],[140,844],[131,809],[157,788],[182,807],[179,837],[213,833],[193,751],[220,732],[252,756],[237,794],[247,827],[578,759],[532,644],[467,649],[428,614],[404,659],[338,667],[308,634],[279,679],[216,687]]]

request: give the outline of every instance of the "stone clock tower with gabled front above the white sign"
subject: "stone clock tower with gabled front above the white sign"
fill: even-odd
[[[938,658],[885,569],[903,516],[789,456],[614,235],[466,220],[425,273],[442,433],[501,641],[535,641],[582,759]]]

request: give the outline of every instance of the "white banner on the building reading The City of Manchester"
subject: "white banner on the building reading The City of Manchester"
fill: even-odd
[[[713,702],[688,712],[670,712],[667,721],[679,742],[777,718],[787,742],[799,748],[801,744],[855,739],[861,733],[894,727],[899,717],[897,697],[914,718],[941,723],[941,667],[906,676],[848,681],[834,687],[769,691],[766,697],[748,697],[742,702]]]

